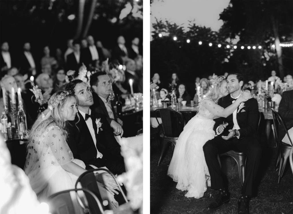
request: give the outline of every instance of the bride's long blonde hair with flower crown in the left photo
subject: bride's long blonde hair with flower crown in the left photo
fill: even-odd
[[[64,119],[61,112],[64,105],[67,103],[67,101],[71,97],[74,97],[76,99],[76,102],[78,105],[78,98],[76,97],[76,95],[69,93],[68,91],[58,91],[50,97],[48,101],[48,108],[45,111],[43,111],[41,114],[39,114],[37,120],[32,126],[32,129],[31,129],[32,131],[30,132],[30,135],[29,135],[29,141],[32,140],[35,132],[37,131],[44,132],[49,126],[49,124],[51,124],[52,122],[55,122],[57,126],[60,127],[65,139],[67,138],[68,133],[65,130],[67,121],[66,121],[66,118]],[[79,115],[78,114],[76,115],[79,118]],[[45,121],[48,121],[48,122],[40,126],[41,124],[45,123]],[[79,122],[79,119],[76,123],[78,122]]]

